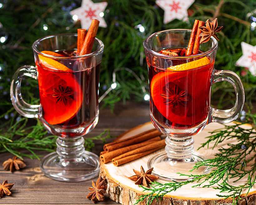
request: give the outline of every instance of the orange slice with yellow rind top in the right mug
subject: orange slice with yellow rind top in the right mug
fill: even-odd
[[[201,69],[195,69],[199,67]],[[205,90],[209,90],[208,87],[206,89],[206,85],[210,86],[208,76],[211,73],[211,69],[213,69],[213,63],[210,63],[210,60],[204,57],[196,61],[172,66],[167,68],[167,71],[160,71],[153,76],[150,82],[150,93],[157,110],[166,119],[177,124],[190,124],[193,120],[199,121],[200,119],[193,118],[191,112],[194,110],[192,108],[196,108],[197,112],[204,113],[202,111],[204,106],[201,103],[197,103],[200,97],[196,96],[195,93],[202,95]],[[166,89],[172,91],[175,90],[176,86],[178,93],[181,91],[186,93],[184,96],[188,100],[183,101],[183,107],[182,104],[176,107],[173,103],[166,104],[165,98],[161,96]],[[189,107],[191,109],[188,109]]]

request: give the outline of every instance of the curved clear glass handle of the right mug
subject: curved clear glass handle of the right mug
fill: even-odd
[[[218,110],[211,108],[211,122],[229,123],[238,118],[244,106],[244,87],[239,76],[229,70],[214,70],[212,76],[212,84],[220,81],[228,81],[234,86],[236,93],[236,102],[233,108],[228,110]]]

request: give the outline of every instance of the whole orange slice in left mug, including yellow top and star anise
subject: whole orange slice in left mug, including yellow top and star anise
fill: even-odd
[[[42,51],[48,55],[60,56],[52,51]],[[74,72],[42,55],[37,64],[40,103],[43,118],[49,124],[62,124],[79,112],[83,102],[83,91]]]

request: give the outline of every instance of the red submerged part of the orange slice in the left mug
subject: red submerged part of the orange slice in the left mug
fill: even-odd
[[[43,117],[49,124],[61,124],[72,119],[81,109],[83,102],[83,90],[79,79],[73,73],[54,72],[38,66],[38,84],[40,103],[43,108]],[[55,90],[60,86],[69,88],[72,97],[57,100]]]

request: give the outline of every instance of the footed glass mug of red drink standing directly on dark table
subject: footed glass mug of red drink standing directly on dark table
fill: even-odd
[[[11,100],[17,112],[39,118],[45,128],[58,136],[56,152],[41,162],[42,172],[59,181],[76,182],[99,173],[99,157],[85,151],[83,135],[98,122],[98,88],[104,45],[95,39],[92,52],[70,56],[76,50],[77,34],[58,34],[35,41],[32,49],[36,67],[22,66],[13,76]],[[51,52],[55,51],[54,56]],[[24,76],[38,80],[40,105],[22,99]]]

